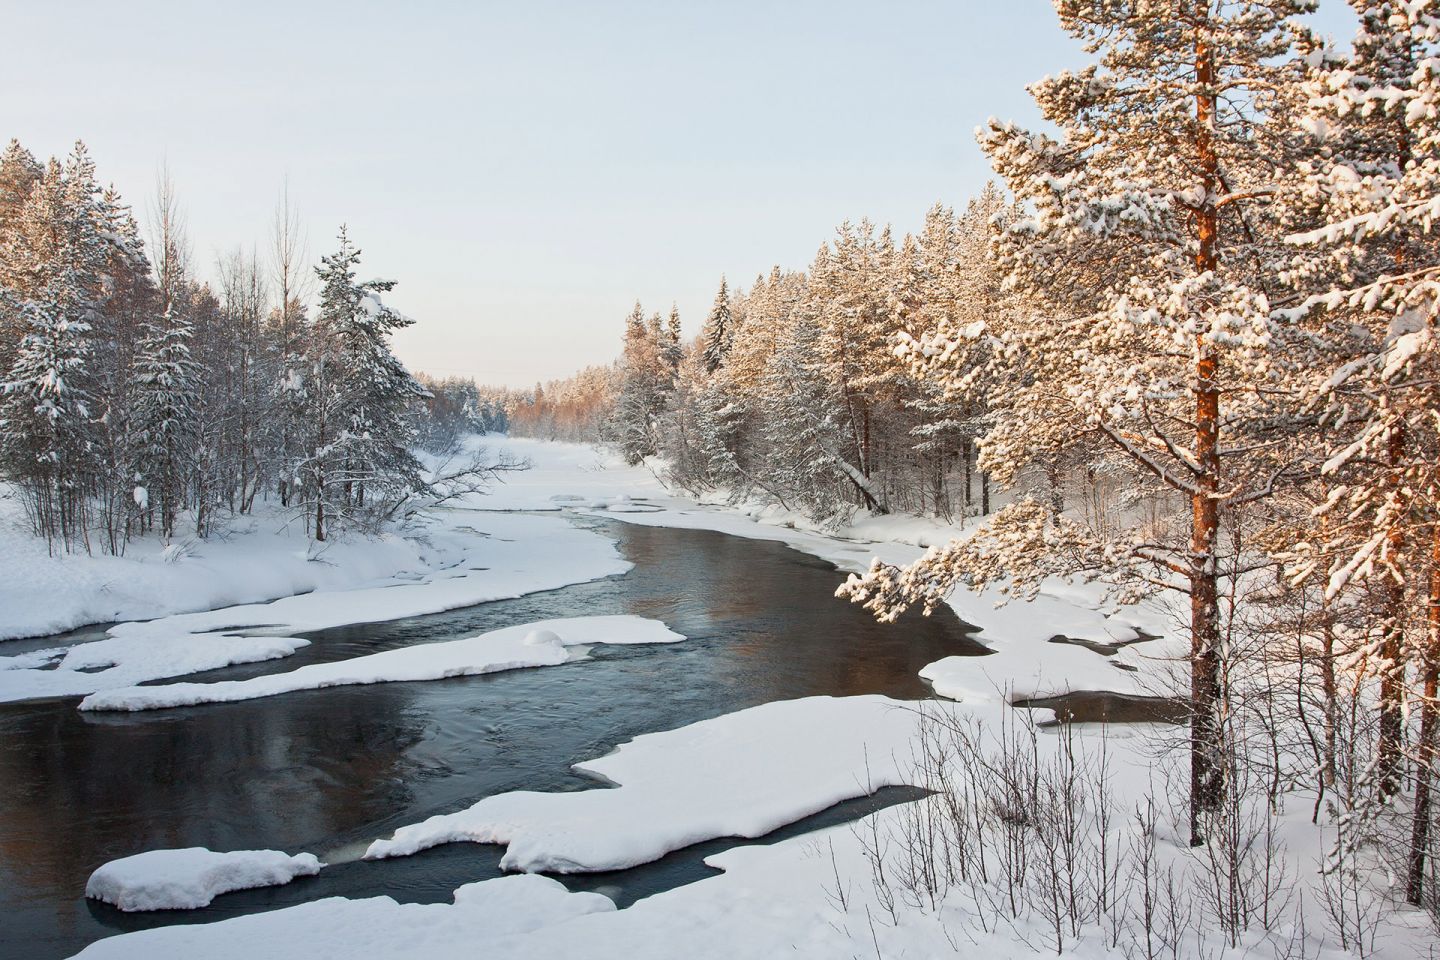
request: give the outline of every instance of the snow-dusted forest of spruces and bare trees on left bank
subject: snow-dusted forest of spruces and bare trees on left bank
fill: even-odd
[[[377,531],[426,489],[412,448],[504,426],[498,399],[393,356],[412,321],[382,299],[393,282],[357,279],[344,227],[311,269],[282,199],[266,255],[223,255],[213,288],[164,173],[150,219],[147,252],[82,142],[0,155],[0,461],[53,548],[203,538],[258,498],[317,541]]]

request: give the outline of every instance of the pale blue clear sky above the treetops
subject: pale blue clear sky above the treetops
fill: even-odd
[[[975,128],[1087,62],[1047,0],[0,3],[0,138],[84,140],[143,229],[166,166],[202,276],[288,186],[311,261],[344,223],[397,281],[402,360],[517,387],[608,363],[636,299],[696,332],[721,275],[963,204]]]

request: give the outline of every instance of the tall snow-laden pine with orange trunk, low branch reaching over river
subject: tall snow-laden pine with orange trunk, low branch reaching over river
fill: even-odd
[[[1020,501],[988,535],[904,571],[877,564],[848,593],[888,615],[933,604],[962,580],[1009,573],[1037,584],[1077,567],[1181,590],[1200,842],[1227,770],[1221,580],[1240,560],[1225,553],[1221,528],[1234,528],[1283,475],[1267,432],[1283,415],[1274,407],[1286,396],[1284,364],[1303,360],[1270,317],[1279,262],[1270,203],[1295,153],[1267,121],[1279,91],[1299,81],[1292,17],[1309,4],[1056,6],[1061,26],[1097,55],[1030,88],[1060,138],[999,122],[981,131],[1027,210],[1004,235],[1009,279],[1053,311],[1034,317],[1024,338],[1032,386],[1007,396],[1017,406],[986,438],[984,461],[1009,481],[1030,465],[1037,435],[1093,435],[1185,510],[1156,535],[1135,530],[1104,543]]]

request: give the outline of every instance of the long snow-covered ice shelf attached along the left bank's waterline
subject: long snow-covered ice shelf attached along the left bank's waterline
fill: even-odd
[[[0,702],[82,697],[232,664],[288,656],[295,633],[454,610],[553,590],[631,569],[605,537],[557,517],[461,514],[474,548],[462,566],[415,581],[120,623],[104,640],[0,656]],[[264,636],[255,636],[264,633]],[[248,636],[246,636],[248,635]]]

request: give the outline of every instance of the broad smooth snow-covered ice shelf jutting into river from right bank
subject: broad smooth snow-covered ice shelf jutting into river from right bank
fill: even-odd
[[[505,843],[504,869],[624,869],[719,836],[763,836],[841,800],[910,782],[917,714],[888,697],[780,701],[645,734],[576,764],[616,789],[521,790],[432,816],[366,858]]]

